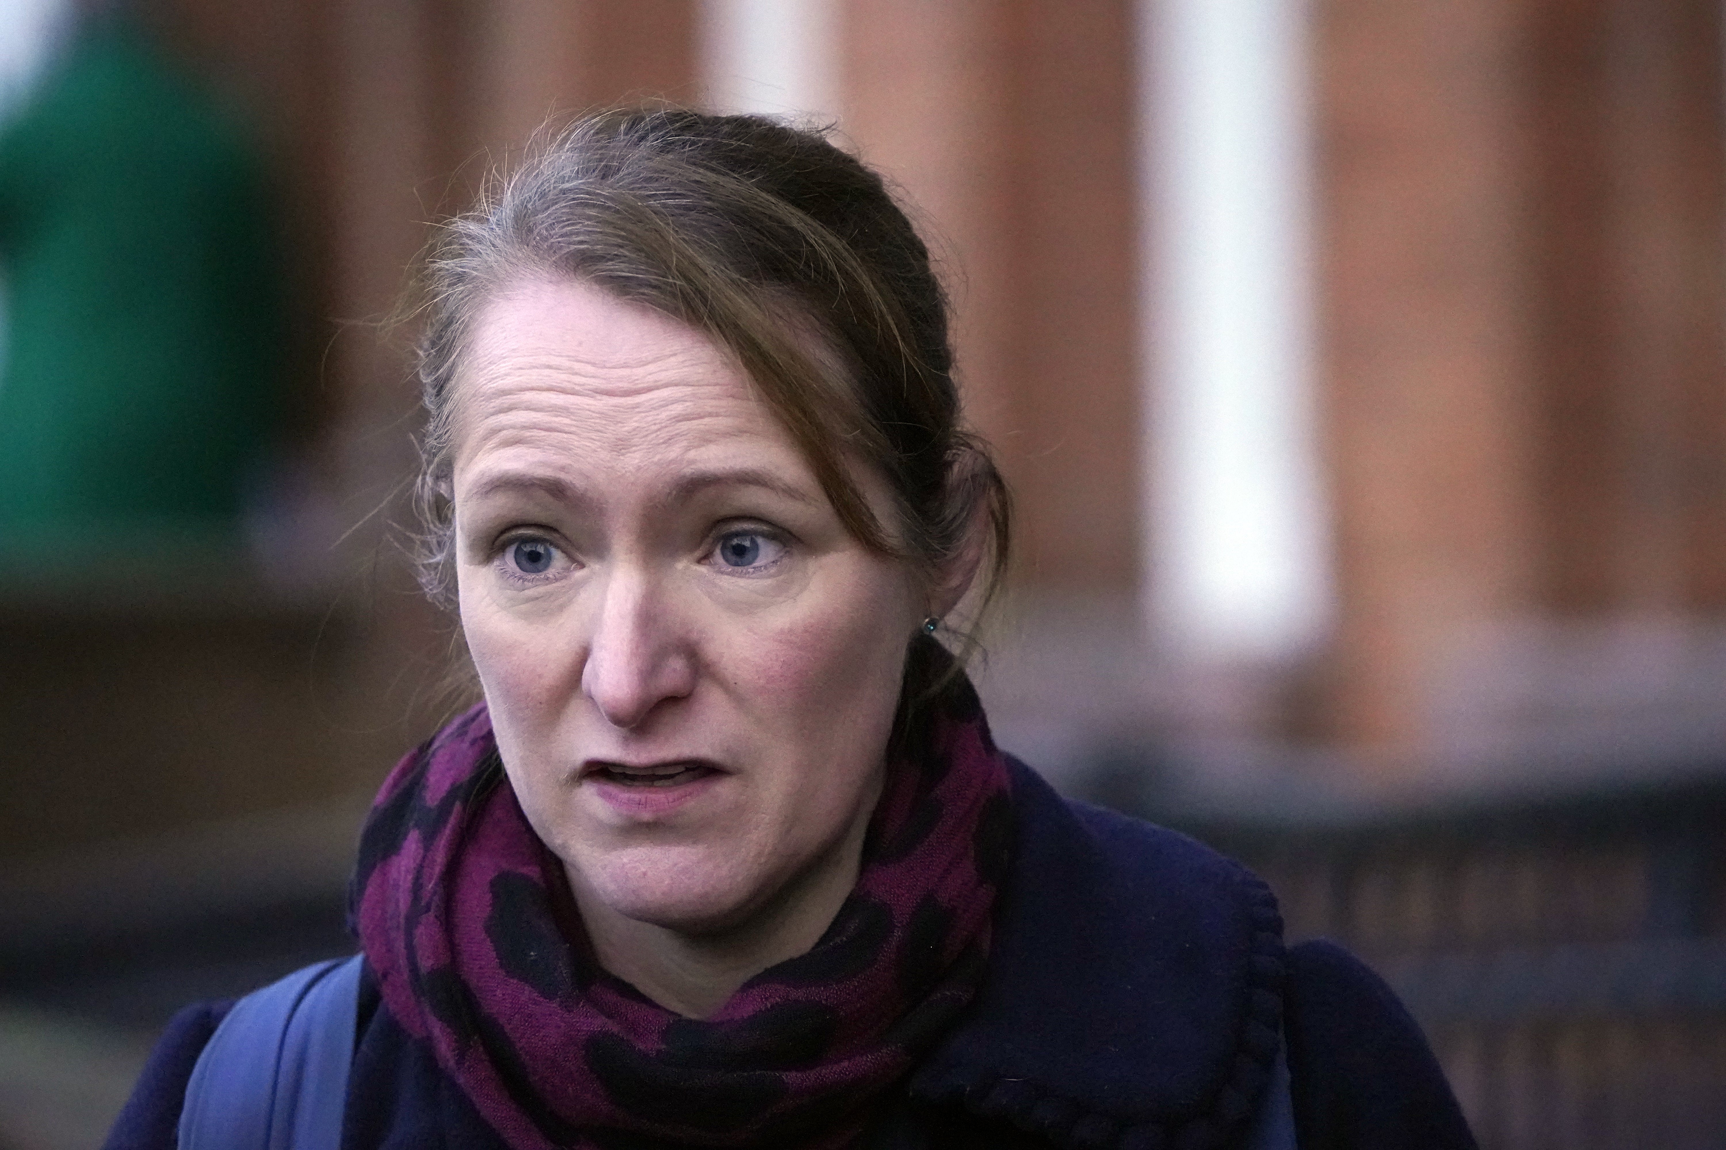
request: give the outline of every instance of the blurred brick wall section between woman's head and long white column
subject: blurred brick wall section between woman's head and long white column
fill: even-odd
[[[1018,498],[1018,581],[1129,605],[1136,79],[1131,3],[844,5],[842,128],[944,247],[967,402]]]

